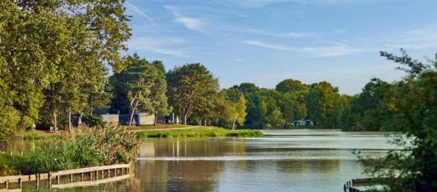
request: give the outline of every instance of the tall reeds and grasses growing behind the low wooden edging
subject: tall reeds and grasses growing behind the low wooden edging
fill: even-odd
[[[35,149],[1,154],[1,174],[35,174],[100,165],[129,163],[136,155],[135,134],[116,128],[86,128],[35,141]]]

